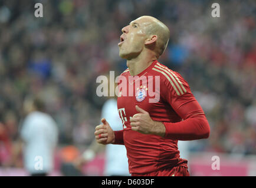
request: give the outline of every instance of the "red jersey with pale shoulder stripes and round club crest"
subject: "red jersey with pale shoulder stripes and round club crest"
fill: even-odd
[[[136,132],[131,129],[130,117],[139,113],[136,105],[159,122],[175,123],[192,113],[204,114],[201,107],[187,109],[186,112],[179,110],[180,106],[196,101],[188,83],[178,72],[157,61],[135,79],[130,76],[129,69],[124,70],[121,76],[117,108],[123,122],[123,144],[127,149],[129,172],[145,174],[178,164],[186,166],[187,161],[180,159],[177,139]],[[140,79],[142,77],[146,79]]]

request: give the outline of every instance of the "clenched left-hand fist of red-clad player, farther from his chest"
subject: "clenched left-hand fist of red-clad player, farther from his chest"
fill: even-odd
[[[105,118],[102,118],[101,122],[102,124],[96,126],[94,132],[97,142],[103,145],[114,143],[114,131]]]

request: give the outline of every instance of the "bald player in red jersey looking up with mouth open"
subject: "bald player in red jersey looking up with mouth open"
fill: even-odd
[[[188,83],[178,72],[157,61],[169,41],[168,27],[152,16],[141,16],[122,29],[119,55],[127,59],[127,89],[119,88],[117,108],[123,130],[113,131],[106,119],[94,135],[101,144],[126,146],[132,176],[189,176],[188,161],[181,159],[178,140],[209,137],[209,124]],[[136,88],[140,79],[148,78]],[[159,100],[150,102],[149,86],[155,86]],[[124,84],[122,80],[122,85]],[[120,82],[121,83],[121,82]],[[120,85],[119,83],[119,85]],[[137,83],[138,84],[138,83]],[[133,95],[130,86],[133,86]]]

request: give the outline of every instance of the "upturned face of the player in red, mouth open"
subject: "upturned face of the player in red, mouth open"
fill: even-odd
[[[120,36],[118,44],[121,58],[136,58],[142,52],[147,36],[145,33],[146,25],[148,23],[145,19],[138,18],[122,29],[123,34]]]

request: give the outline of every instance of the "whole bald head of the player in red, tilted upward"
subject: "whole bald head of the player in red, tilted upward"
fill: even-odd
[[[170,36],[168,27],[152,16],[135,19],[122,32],[119,55],[124,59],[133,59],[145,52],[158,59],[165,51]]]

